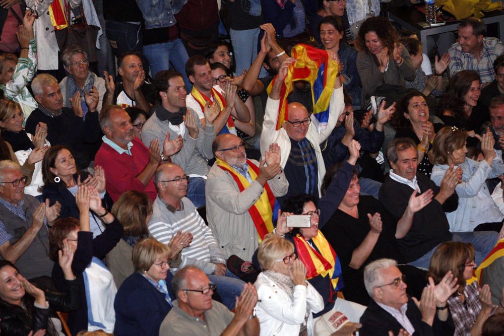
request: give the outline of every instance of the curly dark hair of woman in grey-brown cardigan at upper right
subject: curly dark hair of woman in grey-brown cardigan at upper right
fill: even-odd
[[[374,32],[382,41],[384,47],[389,49],[389,54],[394,51],[394,43],[397,42],[396,31],[394,26],[383,16],[376,16],[366,19],[360,26],[359,33],[357,34],[357,41],[355,46],[357,50],[370,54],[369,49],[366,47],[364,36]]]

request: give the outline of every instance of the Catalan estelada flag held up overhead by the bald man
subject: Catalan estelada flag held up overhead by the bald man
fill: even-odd
[[[289,66],[287,77],[280,91],[276,129],[280,129],[282,123],[288,118],[287,96],[292,92],[293,81],[310,83],[313,114],[319,123],[316,126],[319,130],[323,129],[327,126],[329,119],[329,101],[333,93],[336,75],[338,75],[338,63],[329,56],[326,50],[307,44],[296,44],[292,48],[291,56],[296,59],[296,62]],[[277,77],[268,86],[268,94],[270,94],[276,79]]]

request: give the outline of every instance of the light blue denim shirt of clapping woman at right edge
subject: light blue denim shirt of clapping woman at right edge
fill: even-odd
[[[497,156],[490,166],[484,160],[477,162],[468,158],[458,165],[462,168],[462,183],[455,187],[459,195],[459,207],[456,211],[446,214],[451,232],[472,232],[478,224],[500,222],[504,218],[485,183],[487,178],[504,173],[502,154],[500,151],[495,152]],[[430,179],[441,185],[447,169],[448,165],[436,164],[432,168]]]

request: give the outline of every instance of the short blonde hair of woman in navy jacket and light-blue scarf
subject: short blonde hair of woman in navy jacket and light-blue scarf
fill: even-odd
[[[154,238],[142,239],[133,247],[132,261],[136,272],[147,272],[159,257],[169,257],[171,250]]]

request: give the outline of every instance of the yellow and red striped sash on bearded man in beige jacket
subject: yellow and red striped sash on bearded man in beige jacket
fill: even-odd
[[[243,175],[237,173],[227,162],[217,159],[216,163],[222,170],[231,174],[240,192],[248,188],[250,182],[248,182]],[[252,180],[255,181],[259,175],[259,167],[250,162],[250,160],[247,160],[247,164],[248,173],[252,177]],[[271,191],[268,182],[266,182],[261,197],[259,197],[257,202],[248,209],[248,213],[256,226],[260,242],[264,239],[265,235],[273,232],[273,210],[275,209],[275,205],[278,205],[277,199],[273,191]]]

